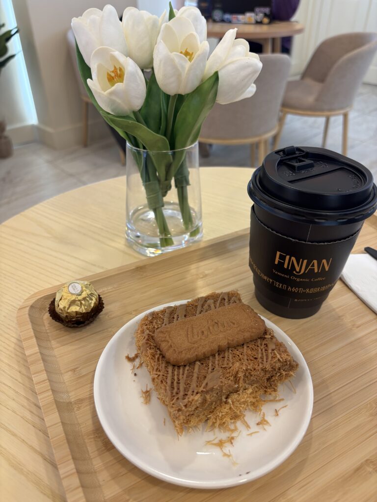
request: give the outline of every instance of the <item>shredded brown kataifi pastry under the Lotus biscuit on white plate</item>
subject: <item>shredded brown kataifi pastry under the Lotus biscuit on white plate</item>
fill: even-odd
[[[241,302],[237,291],[211,293],[151,312],[140,321],[135,332],[137,351],[178,434],[205,421],[208,429],[233,431],[238,421],[249,428],[246,410],[260,413],[265,396],[275,400],[278,386],[298,368],[286,346],[264,323],[258,338],[241,345],[187,364],[174,365],[166,360],[154,337],[159,328],[176,323],[179,329],[179,320]]]

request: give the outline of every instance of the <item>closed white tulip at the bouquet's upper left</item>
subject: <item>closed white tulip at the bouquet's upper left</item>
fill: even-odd
[[[128,55],[122,23],[111,5],[105,6],[103,11],[88,9],[81,17],[73,18],[71,26],[78,48],[88,66],[91,55],[98,47],[113,47],[125,56]]]

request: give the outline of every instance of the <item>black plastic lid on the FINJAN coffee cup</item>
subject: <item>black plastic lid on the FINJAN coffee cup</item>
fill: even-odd
[[[366,219],[377,208],[377,187],[362,164],[331,150],[286,147],[254,172],[250,198],[264,209],[301,222],[339,225]]]

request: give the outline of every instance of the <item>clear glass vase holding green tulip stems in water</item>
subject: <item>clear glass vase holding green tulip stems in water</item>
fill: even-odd
[[[198,143],[169,152],[127,144],[126,237],[146,256],[203,236]]]

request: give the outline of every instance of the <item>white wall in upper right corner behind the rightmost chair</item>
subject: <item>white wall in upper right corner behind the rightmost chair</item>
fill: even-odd
[[[301,0],[294,20],[305,25],[292,50],[291,74],[299,75],[322,40],[340,33],[377,32],[377,0]],[[377,85],[377,56],[364,82]]]

